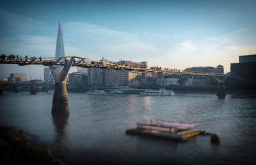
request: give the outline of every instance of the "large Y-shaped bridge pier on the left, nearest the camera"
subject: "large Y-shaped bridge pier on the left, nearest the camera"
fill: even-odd
[[[69,114],[68,95],[65,81],[73,61],[74,58],[71,58],[63,70],[61,70],[61,73],[59,73],[55,67],[49,66],[55,80],[54,94],[52,98],[52,114]]]

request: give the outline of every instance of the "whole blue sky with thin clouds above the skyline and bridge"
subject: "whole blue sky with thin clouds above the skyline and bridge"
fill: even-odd
[[[0,1],[0,54],[55,56],[58,21],[66,56],[216,67],[256,54],[256,1]],[[43,66],[0,65],[0,79]],[[40,72],[41,70],[41,72]],[[75,72],[72,68],[71,72]]]

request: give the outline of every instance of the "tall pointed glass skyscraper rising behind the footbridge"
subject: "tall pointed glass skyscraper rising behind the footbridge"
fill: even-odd
[[[62,31],[61,21],[59,21],[55,57],[63,57],[63,56],[65,56],[64,42],[63,42],[63,31]],[[61,72],[62,69],[63,69],[63,67],[57,67],[57,70],[59,72]]]

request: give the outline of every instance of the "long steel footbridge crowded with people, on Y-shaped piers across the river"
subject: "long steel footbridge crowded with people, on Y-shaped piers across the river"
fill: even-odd
[[[159,67],[139,67],[139,66],[125,66],[119,63],[110,63],[104,61],[97,61],[88,58],[81,58],[78,56],[64,56],[64,57],[53,57],[53,58],[35,58],[35,57],[15,57],[10,56],[8,58],[1,57],[0,64],[17,64],[20,66],[24,65],[44,65],[49,67],[51,74],[55,81],[54,95],[52,100],[52,114],[68,114],[68,97],[66,88],[66,79],[68,72],[71,67],[83,67],[83,68],[102,68],[102,69],[115,69],[115,70],[127,70],[127,71],[138,71],[138,72],[157,72],[164,74],[180,74],[180,75],[203,75],[215,77],[218,81],[217,96],[219,98],[226,97],[226,91],[224,81],[227,79],[233,79],[239,82],[249,82],[243,77],[239,77],[236,74],[228,72],[227,74],[207,74],[200,72],[180,72],[177,69],[159,68]],[[58,67],[63,66],[63,70],[59,72]]]

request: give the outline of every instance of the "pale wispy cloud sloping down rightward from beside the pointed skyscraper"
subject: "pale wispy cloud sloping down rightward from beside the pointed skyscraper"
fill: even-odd
[[[140,36],[100,27],[85,22],[70,22],[65,26],[67,37],[79,41],[77,47],[88,52],[109,56],[112,60],[125,56],[129,59],[138,59],[138,56],[148,56],[157,51],[157,47],[143,41]],[[77,42],[76,42],[77,43]],[[80,44],[80,45],[79,45]]]

